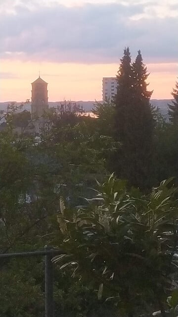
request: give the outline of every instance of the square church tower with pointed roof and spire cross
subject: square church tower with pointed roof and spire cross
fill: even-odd
[[[39,75],[32,83],[32,118],[41,117],[48,107],[47,83]]]

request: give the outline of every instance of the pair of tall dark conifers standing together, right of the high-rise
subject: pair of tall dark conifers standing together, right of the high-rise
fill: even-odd
[[[116,172],[129,183],[141,188],[149,187],[148,174],[151,166],[153,117],[147,90],[147,68],[140,51],[133,64],[129,49],[117,76],[116,130],[122,148],[117,156]]]

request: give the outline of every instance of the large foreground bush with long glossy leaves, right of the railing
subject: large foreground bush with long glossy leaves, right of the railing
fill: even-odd
[[[58,215],[67,255],[53,259],[98,289],[98,298],[133,313],[145,303],[161,305],[177,265],[177,189],[161,182],[149,197],[127,192],[113,175],[78,211]],[[141,309],[141,308],[140,308]]]

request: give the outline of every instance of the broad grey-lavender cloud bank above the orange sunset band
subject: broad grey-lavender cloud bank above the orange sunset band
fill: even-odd
[[[35,1],[34,1],[35,2]],[[178,11],[178,5],[173,4]],[[78,63],[115,63],[130,46],[141,49],[146,62],[178,60],[178,18],[149,17],[145,4],[61,4],[0,17],[1,57]],[[143,15],[144,16],[144,15]],[[10,53],[9,53],[10,52]]]

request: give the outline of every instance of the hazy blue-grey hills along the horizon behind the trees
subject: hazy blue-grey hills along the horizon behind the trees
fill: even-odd
[[[101,101],[99,101],[101,102]],[[6,110],[7,105],[10,104],[11,102],[4,102],[4,103],[0,103],[0,110]],[[55,107],[57,105],[59,105],[60,102],[49,102],[49,107]],[[90,112],[91,109],[94,106],[94,101],[77,101],[77,104],[79,104],[80,106],[83,106],[85,111]],[[151,104],[153,106],[159,107],[160,111],[162,113],[162,115],[168,119],[168,104],[171,103],[170,99],[152,99],[151,100]],[[19,104],[19,103],[17,103]],[[28,111],[31,110],[31,104],[28,104],[26,106],[23,107],[23,109],[26,109]]]

